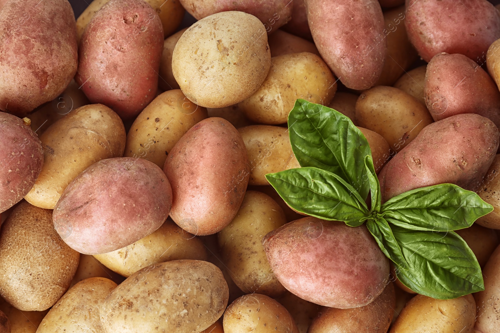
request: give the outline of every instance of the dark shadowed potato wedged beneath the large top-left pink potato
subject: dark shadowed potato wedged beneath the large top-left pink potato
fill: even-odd
[[[79,108],[80,106],[90,104],[87,97],[78,89],[78,85],[71,80],[66,90],[53,99],[50,103],[29,115],[31,119],[31,129],[38,135],[43,134],[50,125],[64,117],[66,114]]]

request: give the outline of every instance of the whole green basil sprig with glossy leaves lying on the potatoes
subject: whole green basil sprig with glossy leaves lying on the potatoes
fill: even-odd
[[[418,188],[381,204],[370,147],[349,118],[297,99],[288,129],[301,168],[265,177],[291,208],[351,227],[366,222],[397,278],[416,293],[447,300],[484,290],[474,254],[453,230],[470,227],[491,205],[453,184]]]

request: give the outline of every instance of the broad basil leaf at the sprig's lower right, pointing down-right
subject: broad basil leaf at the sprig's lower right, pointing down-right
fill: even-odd
[[[390,227],[408,263],[408,270],[396,270],[397,278],[406,287],[439,300],[484,290],[481,268],[460,236],[452,231]]]

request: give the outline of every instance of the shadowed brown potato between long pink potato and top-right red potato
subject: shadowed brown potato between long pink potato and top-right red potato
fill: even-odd
[[[382,3],[380,4],[382,5]],[[387,55],[383,63],[382,74],[374,85],[394,84],[418,57],[406,34],[404,6],[385,11],[383,20],[385,24],[383,35],[387,43]]]

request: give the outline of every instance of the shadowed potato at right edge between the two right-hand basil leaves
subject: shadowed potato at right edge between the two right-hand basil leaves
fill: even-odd
[[[469,228],[455,231],[475,255],[479,266],[483,267],[498,246],[498,237],[492,229],[481,227],[474,223]]]

